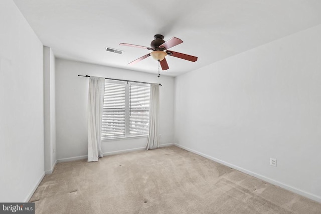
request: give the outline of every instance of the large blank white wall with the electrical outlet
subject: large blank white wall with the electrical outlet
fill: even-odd
[[[177,77],[175,141],[321,201],[321,26]]]

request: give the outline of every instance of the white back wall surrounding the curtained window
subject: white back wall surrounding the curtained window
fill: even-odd
[[[56,125],[57,159],[71,160],[87,155],[87,99],[89,78],[99,76],[142,82],[162,83],[160,86],[160,143],[174,141],[174,78],[155,74],[117,69],[94,64],[56,59]],[[104,153],[142,148],[147,138],[102,142]]]

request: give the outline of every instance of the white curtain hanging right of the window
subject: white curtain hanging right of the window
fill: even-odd
[[[146,150],[159,147],[158,140],[158,120],[159,120],[159,84],[150,84],[149,101],[149,136]]]

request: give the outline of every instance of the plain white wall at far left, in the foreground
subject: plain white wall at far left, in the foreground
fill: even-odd
[[[25,202],[44,176],[43,45],[0,1],[0,201]]]

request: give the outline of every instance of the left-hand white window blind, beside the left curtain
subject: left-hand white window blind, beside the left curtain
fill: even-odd
[[[125,136],[125,83],[105,82],[101,137]]]

